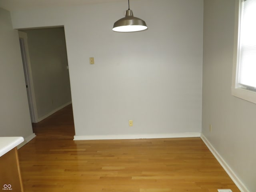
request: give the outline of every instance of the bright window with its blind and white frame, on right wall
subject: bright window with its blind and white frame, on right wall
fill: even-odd
[[[256,103],[256,0],[240,0],[232,94]]]

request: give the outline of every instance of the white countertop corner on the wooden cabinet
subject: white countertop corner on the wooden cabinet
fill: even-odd
[[[24,141],[23,137],[0,137],[0,157]]]

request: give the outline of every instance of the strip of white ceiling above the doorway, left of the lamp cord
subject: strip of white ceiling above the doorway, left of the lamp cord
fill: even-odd
[[[34,9],[54,6],[78,6],[108,2],[123,2],[128,0],[0,0],[0,8],[6,10]]]

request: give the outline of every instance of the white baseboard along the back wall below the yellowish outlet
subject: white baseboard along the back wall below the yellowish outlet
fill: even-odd
[[[170,133],[170,134],[127,134],[127,135],[87,135],[74,136],[74,140],[109,140],[109,139],[152,139],[152,138],[181,138],[200,137],[200,132]]]

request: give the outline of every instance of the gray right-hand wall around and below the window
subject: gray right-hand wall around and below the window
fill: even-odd
[[[254,192],[256,104],[231,95],[235,2],[204,0],[202,133]]]

